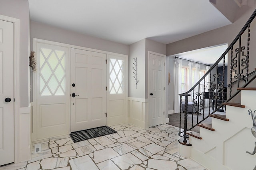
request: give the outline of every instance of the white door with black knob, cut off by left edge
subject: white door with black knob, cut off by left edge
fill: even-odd
[[[0,165],[14,162],[14,24],[0,20]]]

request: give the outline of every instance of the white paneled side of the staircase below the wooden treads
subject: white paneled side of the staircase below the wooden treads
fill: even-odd
[[[229,121],[212,118],[215,131],[200,127],[202,140],[190,136],[191,158],[210,170],[252,170],[256,165],[256,138],[251,133],[252,118],[248,109],[256,110],[256,91],[242,91],[245,108],[226,106]]]

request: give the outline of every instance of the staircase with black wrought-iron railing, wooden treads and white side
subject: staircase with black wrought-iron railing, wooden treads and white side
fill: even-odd
[[[254,148],[256,151],[256,134],[251,132],[252,127],[252,130],[256,128],[252,121],[252,114],[254,111],[256,113],[256,68],[249,69],[250,46],[255,46],[250,44],[250,25],[255,16],[256,10],[209,71],[192,89],[180,94],[180,155],[191,157],[210,170],[256,170],[256,154],[246,153],[253,152]],[[228,70],[225,69],[226,55],[230,56]],[[255,55],[250,54],[253,57]],[[222,73],[218,73],[220,61],[223,61]],[[229,84],[227,91],[224,91],[226,72]],[[210,77],[209,87],[206,85],[207,76]],[[206,98],[207,93],[209,98]],[[227,97],[224,97],[225,93],[228,94]],[[187,127],[187,122],[190,121],[187,119],[189,96],[193,107],[192,127]],[[206,99],[209,100],[209,106],[210,101],[216,104],[213,111],[210,111],[210,107],[205,107]],[[223,106],[226,107],[226,115],[217,114]],[[181,115],[184,116],[184,128],[181,126]],[[193,116],[197,117],[197,122],[193,123]],[[202,119],[198,119],[199,117]],[[208,117],[212,118],[211,124],[203,122]],[[194,127],[200,127],[200,133],[194,132]]]

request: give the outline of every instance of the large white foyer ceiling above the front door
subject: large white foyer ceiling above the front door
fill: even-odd
[[[171,43],[231,24],[208,0],[28,0],[30,19],[130,45]]]

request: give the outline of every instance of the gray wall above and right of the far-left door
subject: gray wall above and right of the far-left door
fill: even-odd
[[[20,20],[20,107],[29,104],[29,6],[28,0],[1,0],[0,15]]]

